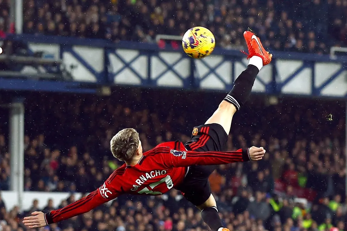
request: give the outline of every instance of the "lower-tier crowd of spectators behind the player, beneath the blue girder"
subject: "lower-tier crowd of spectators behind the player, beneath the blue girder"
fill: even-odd
[[[132,88],[103,98],[33,94],[25,103],[25,190],[91,192],[120,165],[109,152],[109,140],[118,130],[135,127],[144,150],[164,141],[187,141],[193,126],[204,123],[222,98],[211,92]],[[231,231],[346,230],[342,105],[251,101],[235,115],[227,149],[263,146],[267,155],[260,162],[220,166],[211,175],[225,225]],[[201,108],[202,102],[215,106]],[[327,121],[329,113],[333,121]],[[6,190],[10,153],[6,124],[0,128],[0,189]],[[61,206],[75,199],[71,196]],[[4,206],[0,199],[3,231],[25,230],[20,223],[24,215],[54,209],[51,201],[45,208],[34,201],[24,213]],[[155,198],[121,196],[45,229],[200,231],[206,226],[199,212],[172,190]]]

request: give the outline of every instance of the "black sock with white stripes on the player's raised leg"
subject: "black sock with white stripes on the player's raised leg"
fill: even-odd
[[[247,69],[237,77],[234,87],[224,100],[230,104],[234,104],[236,110],[239,110],[251,95],[255,77],[258,73],[259,69],[256,66],[248,65]]]

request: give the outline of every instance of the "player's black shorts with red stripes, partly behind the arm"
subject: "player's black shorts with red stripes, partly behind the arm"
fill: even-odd
[[[220,124],[205,124],[194,127],[191,141],[185,144],[188,151],[224,151],[228,134]],[[212,166],[190,166],[183,183],[176,187],[195,206],[205,203],[211,195],[209,177],[217,168]]]

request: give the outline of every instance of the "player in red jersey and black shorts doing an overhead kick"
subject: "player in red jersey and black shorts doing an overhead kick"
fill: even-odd
[[[24,217],[23,223],[29,228],[39,228],[86,213],[121,194],[162,195],[176,188],[201,210],[202,219],[213,231],[229,231],[223,228],[208,178],[216,165],[257,161],[265,153],[262,147],[254,146],[223,152],[232,116],[251,94],[260,69],[272,59],[251,30],[244,32],[244,38],[249,51],[247,69],[235,80],[232,90],[206,123],[194,127],[191,141],[161,143],[143,153],[138,133],[133,128],[123,129],[113,136],[110,145],[113,156],[125,164],[102,186],[59,210],[45,214],[33,212],[32,216]]]

